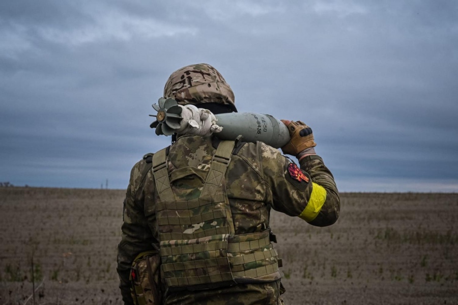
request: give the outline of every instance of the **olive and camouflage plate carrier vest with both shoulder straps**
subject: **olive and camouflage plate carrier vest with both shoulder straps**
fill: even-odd
[[[220,142],[202,192],[192,200],[176,199],[179,196],[170,187],[166,150],[153,156],[153,175],[160,198],[156,202],[156,223],[161,278],[171,289],[199,290],[281,278],[270,229],[235,235],[224,181],[233,149],[234,141]],[[197,169],[186,167],[176,171],[180,170],[184,177]]]

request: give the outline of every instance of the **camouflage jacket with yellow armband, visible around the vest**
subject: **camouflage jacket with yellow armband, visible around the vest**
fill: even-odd
[[[187,166],[208,171],[218,142],[216,137],[180,137],[168,149],[169,176],[173,176],[174,170]],[[123,234],[118,246],[118,273],[123,300],[127,304],[132,303],[129,290],[132,261],[140,252],[153,249],[152,243],[158,242],[157,226],[148,223],[144,211],[145,205],[151,206],[157,200],[151,171],[152,155],[147,154],[134,165],[126,193]],[[236,143],[225,181],[237,235],[269,228],[271,208],[290,216],[299,216],[313,226],[324,227],[335,223],[340,203],[331,172],[318,155],[303,158],[300,169],[302,171],[278,150],[262,142]],[[190,197],[195,196],[192,184],[183,179],[176,183],[175,187],[187,188]],[[250,200],[237,198],[240,192],[244,192],[245,198],[249,196]],[[152,219],[151,215],[149,218]],[[275,282],[270,285],[235,285],[224,290],[165,292],[163,300],[165,304],[224,304],[236,299],[240,301],[241,298],[247,301],[250,298],[265,298],[263,303],[271,304],[277,303],[278,291],[279,283]]]

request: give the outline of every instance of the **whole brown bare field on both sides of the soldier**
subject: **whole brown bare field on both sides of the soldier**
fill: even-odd
[[[32,304],[34,282],[36,304],[121,304],[124,195],[0,188],[0,305]],[[327,228],[273,212],[283,299],[458,304],[457,220],[458,194],[444,193],[342,193],[340,219]]]

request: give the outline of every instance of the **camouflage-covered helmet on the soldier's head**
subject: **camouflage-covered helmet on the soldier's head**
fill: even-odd
[[[181,105],[218,103],[235,109],[234,92],[208,64],[189,65],[172,73],[165,84],[164,97],[174,98]]]

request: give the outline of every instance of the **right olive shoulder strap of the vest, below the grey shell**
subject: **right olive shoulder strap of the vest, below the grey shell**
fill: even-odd
[[[226,174],[227,166],[231,162],[232,151],[234,150],[234,141],[221,141],[212,156],[210,170],[201,197],[215,195],[220,189],[221,181]]]

